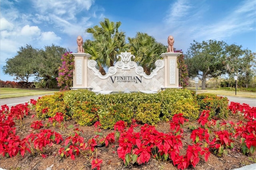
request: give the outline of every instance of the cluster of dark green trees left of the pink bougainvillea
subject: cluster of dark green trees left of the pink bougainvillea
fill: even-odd
[[[58,88],[58,67],[62,65],[60,58],[66,51],[66,48],[54,44],[45,46],[44,49],[26,44],[25,47],[20,47],[16,56],[6,59],[3,72],[14,76],[16,81],[28,83],[30,77],[35,77],[44,88]]]

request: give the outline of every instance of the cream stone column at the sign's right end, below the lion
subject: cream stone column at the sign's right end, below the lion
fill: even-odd
[[[182,53],[162,53],[164,59],[164,88],[179,87],[179,69],[177,57]]]

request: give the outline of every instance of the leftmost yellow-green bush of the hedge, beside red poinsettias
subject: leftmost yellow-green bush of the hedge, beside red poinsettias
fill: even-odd
[[[67,119],[68,115],[66,113],[68,107],[64,104],[62,97],[63,92],[56,92],[54,95],[46,95],[38,99],[36,103],[36,115],[38,119],[54,117],[57,112],[63,113],[64,118]]]

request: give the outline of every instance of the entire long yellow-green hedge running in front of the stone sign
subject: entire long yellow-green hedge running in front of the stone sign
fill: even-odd
[[[198,105],[199,104],[199,105]],[[211,117],[228,116],[228,101],[216,95],[197,95],[187,89],[166,89],[155,94],[117,93],[96,94],[80,89],[54,93],[38,99],[38,119],[53,117],[62,112],[65,119],[74,119],[79,125],[92,125],[100,121],[102,127],[113,128],[117,121],[157,124],[169,121],[175,114],[196,120],[203,109],[211,109]],[[47,110],[47,112],[46,112]]]

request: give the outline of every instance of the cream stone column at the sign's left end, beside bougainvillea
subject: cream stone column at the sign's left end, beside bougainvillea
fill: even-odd
[[[87,60],[88,53],[72,53],[74,59],[73,87],[71,89],[88,89],[87,87]]]

